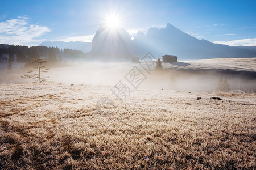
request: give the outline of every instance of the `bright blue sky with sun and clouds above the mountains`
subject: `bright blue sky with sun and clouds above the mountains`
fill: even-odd
[[[134,37],[150,27],[174,25],[198,39],[256,45],[256,1],[2,1],[0,43],[91,41],[109,14]]]

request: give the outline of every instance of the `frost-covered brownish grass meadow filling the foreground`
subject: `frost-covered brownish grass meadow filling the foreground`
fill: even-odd
[[[256,167],[254,93],[141,89],[121,102],[108,86],[0,90],[0,169]],[[104,97],[114,104],[97,107]]]

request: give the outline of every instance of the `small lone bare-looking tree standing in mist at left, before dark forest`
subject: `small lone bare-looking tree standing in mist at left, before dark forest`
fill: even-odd
[[[42,75],[42,73],[46,73],[49,70],[46,68],[46,66],[44,66],[43,64],[46,63],[46,60],[43,58],[37,58],[37,59],[32,59],[32,63],[35,63],[36,67],[35,70],[28,70],[27,73],[33,73],[36,72],[35,74],[32,75],[24,75],[21,76],[22,78],[26,79],[26,78],[30,78],[30,79],[38,79],[39,83],[45,82],[47,78],[47,76]]]

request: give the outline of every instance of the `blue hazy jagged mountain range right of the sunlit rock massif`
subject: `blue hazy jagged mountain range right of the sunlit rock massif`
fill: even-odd
[[[166,28],[148,29],[146,35],[138,32],[133,41],[135,46],[141,47],[138,53],[151,51],[157,57],[164,54],[173,54],[182,59],[256,57],[253,48],[213,44],[207,40],[198,40],[169,23]]]

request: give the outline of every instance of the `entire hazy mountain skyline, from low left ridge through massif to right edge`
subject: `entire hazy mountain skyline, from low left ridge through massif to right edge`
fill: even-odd
[[[101,24],[92,43],[90,42],[43,42],[40,45],[78,49],[94,59],[123,60],[142,57],[151,52],[155,57],[171,54],[178,59],[243,58],[256,57],[256,46],[228,46],[199,40],[171,24],[166,28],[148,29],[146,35],[138,32],[131,40],[122,28],[109,28]]]

